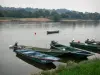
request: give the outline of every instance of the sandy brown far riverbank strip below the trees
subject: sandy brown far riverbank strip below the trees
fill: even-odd
[[[0,22],[53,22],[53,20],[48,18],[10,18],[10,17],[0,17]],[[61,19],[59,22],[86,22],[95,20],[81,20],[81,19]]]

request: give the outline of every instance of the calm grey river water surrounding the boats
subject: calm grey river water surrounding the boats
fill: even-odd
[[[48,30],[59,30],[59,34],[47,35]],[[35,35],[36,33],[36,35]],[[69,45],[87,38],[100,41],[99,22],[1,22],[0,23],[0,75],[30,75],[51,67],[30,63],[16,56],[9,49],[16,41],[18,44],[50,48],[51,40]],[[54,67],[54,65],[52,65]]]

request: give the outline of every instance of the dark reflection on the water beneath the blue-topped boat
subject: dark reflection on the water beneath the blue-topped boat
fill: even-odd
[[[26,63],[33,65],[33,66],[35,66],[39,69],[42,69],[42,70],[50,70],[50,69],[56,68],[56,66],[53,63],[41,64],[41,63],[38,63],[38,62],[35,62],[35,61],[32,61],[32,60],[26,59],[26,58],[24,58],[23,56],[20,56],[20,55],[16,55],[16,57],[18,57],[19,59],[25,61]]]

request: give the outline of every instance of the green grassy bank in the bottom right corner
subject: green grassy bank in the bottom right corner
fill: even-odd
[[[79,64],[68,62],[55,70],[42,71],[38,75],[100,75],[100,60],[82,61]]]

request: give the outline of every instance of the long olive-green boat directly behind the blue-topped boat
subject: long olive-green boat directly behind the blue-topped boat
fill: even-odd
[[[14,46],[15,45],[10,45],[9,48],[16,51],[16,49],[14,49],[16,47],[14,47]],[[17,49],[32,49],[34,51],[49,54],[52,56],[61,56],[65,53],[62,51],[55,50],[55,49],[39,48],[39,47],[32,47],[32,46],[25,46],[25,45],[17,45]]]

